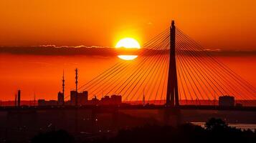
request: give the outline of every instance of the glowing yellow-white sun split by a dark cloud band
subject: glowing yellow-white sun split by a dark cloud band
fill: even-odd
[[[115,45],[115,48],[141,49],[141,46],[136,39],[124,38],[118,41],[118,43]],[[133,60],[133,59],[136,59],[138,56],[137,55],[118,55],[118,57],[124,60]]]

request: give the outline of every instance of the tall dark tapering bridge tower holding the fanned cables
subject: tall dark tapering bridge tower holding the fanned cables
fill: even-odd
[[[166,93],[167,106],[179,106],[178,81],[176,72],[176,56],[175,56],[175,25],[171,21],[170,27],[170,57],[169,57],[169,74]]]

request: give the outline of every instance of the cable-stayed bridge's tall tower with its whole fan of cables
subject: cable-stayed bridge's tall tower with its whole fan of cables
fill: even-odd
[[[256,89],[174,25],[143,44],[138,58],[120,61],[80,91],[89,98],[118,94],[130,104],[214,104],[229,95],[252,105]]]

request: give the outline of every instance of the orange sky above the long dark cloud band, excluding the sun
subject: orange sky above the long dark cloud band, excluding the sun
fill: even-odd
[[[1,0],[0,45],[114,46],[147,41],[171,19],[210,48],[256,49],[255,0]]]

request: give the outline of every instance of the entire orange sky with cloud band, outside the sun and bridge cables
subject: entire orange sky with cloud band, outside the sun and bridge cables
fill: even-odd
[[[14,99],[17,89],[22,99],[34,92],[56,99],[63,69],[68,92],[76,67],[83,84],[120,60],[109,48],[90,54],[77,46],[112,47],[128,36],[143,44],[171,19],[205,48],[226,50],[217,58],[256,87],[255,7],[255,0],[1,0],[0,99]]]

